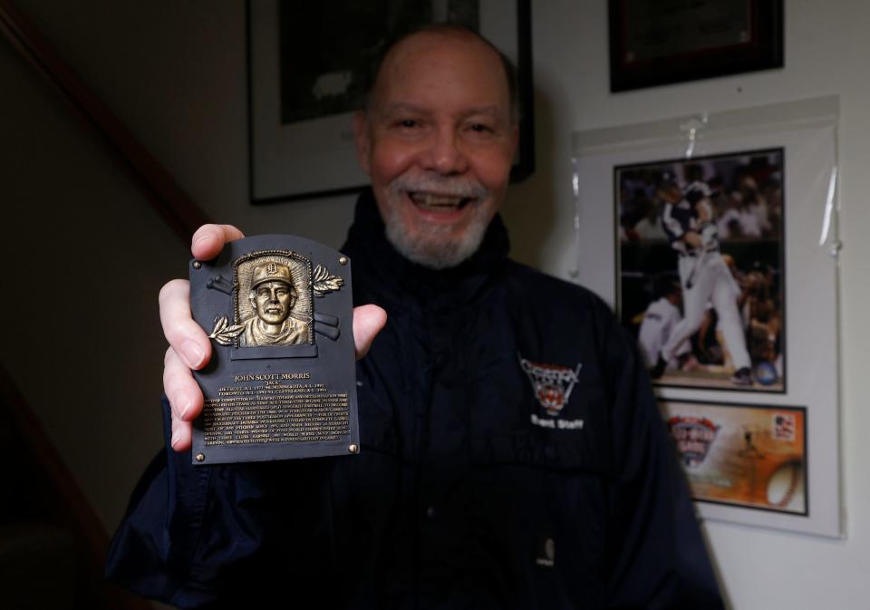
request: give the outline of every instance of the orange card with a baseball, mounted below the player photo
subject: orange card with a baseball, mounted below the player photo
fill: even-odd
[[[692,499],[808,515],[807,410],[662,401]]]

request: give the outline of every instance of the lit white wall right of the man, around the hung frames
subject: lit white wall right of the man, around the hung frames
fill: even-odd
[[[575,268],[570,131],[830,93],[840,96],[845,243],[840,360],[847,537],[829,540],[720,523],[709,523],[706,530],[735,609],[870,607],[870,450],[863,441],[870,426],[870,410],[865,408],[870,380],[863,370],[870,343],[865,315],[870,296],[870,245],[865,239],[870,227],[870,208],[865,204],[870,192],[870,5],[788,0],[784,70],[619,94],[608,87],[604,2],[536,2],[533,16],[537,98],[553,127],[540,134],[538,146],[552,164],[519,190],[534,201],[537,193],[552,189],[553,218],[536,262],[556,275],[565,276]],[[512,199],[507,214],[520,205],[518,198]],[[521,226],[511,220],[509,225]]]

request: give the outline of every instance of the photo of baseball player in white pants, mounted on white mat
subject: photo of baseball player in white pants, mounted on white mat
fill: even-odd
[[[654,383],[785,392],[784,156],[614,168],[617,310]]]

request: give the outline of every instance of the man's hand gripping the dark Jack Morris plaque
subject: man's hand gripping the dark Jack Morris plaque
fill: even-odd
[[[190,247],[194,258],[211,260],[224,245],[245,237],[230,225],[205,225],[193,235]],[[369,351],[376,334],[387,322],[387,314],[377,305],[353,309],[353,343],[359,360]],[[169,341],[163,359],[163,391],[172,408],[172,439],[176,451],[190,449],[191,421],[202,412],[202,391],[191,370],[201,369],[211,358],[211,342],[190,315],[190,285],[174,279],[160,290],[160,324]]]

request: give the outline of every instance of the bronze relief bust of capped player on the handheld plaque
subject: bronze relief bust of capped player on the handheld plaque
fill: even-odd
[[[241,347],[306,344],[309,325],[290,315],[296,302],[296,290],[290,267],[281,263],[264,263],[254,267],[248,301],[254,315],[242,324],[238,337]]]

